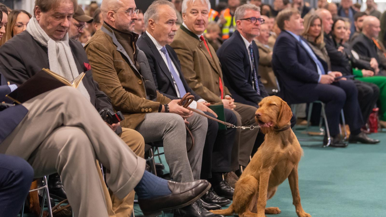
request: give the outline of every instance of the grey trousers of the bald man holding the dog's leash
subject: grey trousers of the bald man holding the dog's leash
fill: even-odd
[[[208,120],[194,113],[187,119],[195,146],[189,153],[191,138],[186,135],[183,118],[171,113],[148,113],[145,120],[135,129],[145,142],[163,141],[166,162],[173,181],[188,182],[200,179],[202,152],[207,135]]]

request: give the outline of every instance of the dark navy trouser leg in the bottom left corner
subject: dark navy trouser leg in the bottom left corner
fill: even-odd
[[[17,216],[33,177],[34,170],[27,161],[0,154],[0,217]]]

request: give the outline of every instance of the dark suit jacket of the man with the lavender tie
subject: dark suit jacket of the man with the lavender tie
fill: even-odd
[[[153,74],[154,84],[156,85],[156,89],[165,95],[166,97],[176,100],[178,99],[176,88],[174,87],[174,81],[169,71],[168,66],[166,65],[164,59],[161,54],[157,50],[157,47],[154,45],[153,41],[151,41],[150,37],[145,32],[137,41],[137,46],[141,51],[146,54],[147,61],[149,62],[149,66],[151,72]],[[194,92],[182,74],[181,64],[179,63],[176,52],[173,50],[171,46],[166,45],[166,50],[169,53],[171,61],[173,61],[174,65],[177,68],[179,78],[182,81],[182,84],[185,87],[186,93],[191,93],[195,97],[195,100],[201,99],[201,97]],[[181,96],[183,97],[183,96]]]

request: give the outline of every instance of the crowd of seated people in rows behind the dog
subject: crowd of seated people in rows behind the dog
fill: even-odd
[[[51,175],[51,192],[77,217],[130,216],[135,193],[145,215],[223,217],[208,210],[231,203],[264,134],[223,129],[180,106],[186,93],[195,97],[191,108],[246,127],[269,95],[304,110],[319,100],[331,136],[323,144],[379,142],[366,127],[379,107],[386,128],[386,15],[374,1],[364,12],[352,0],[318,0],[317,8],[304,0],[156,0],[143,11],[136,3],[103,0],[83,10],[76,0],[36,0],[32,15],[0,4],[0,216],[16,216],[33,178]],[[23,103],[5,97],[42,68],[85,78]],[[103,110],[125,119],[108,124]],[[146,171],[145,144],[163,147],[174,182]]]

